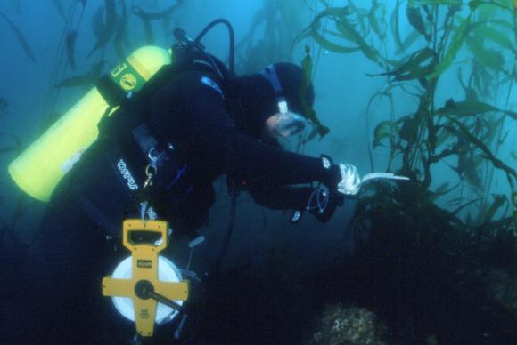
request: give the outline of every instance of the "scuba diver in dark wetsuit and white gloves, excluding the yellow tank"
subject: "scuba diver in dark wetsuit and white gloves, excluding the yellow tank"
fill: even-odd
[[[3,335],[28,343],[119,339],[120,329],[130,327],[99,282],[111,262],[127,255],[115,245],[120,224],[167,219],[176,236],[195,238],[220,176],[233,208],[234,196],[245,191],[259,205],[295,210],[292,221],[304,211],[328,221],[344,197],[357,194],[353,165],[292,153],[278,142],[303,130],[314,103],[302,68],[283,62],[233,76],[233,68],[202,51],[200,36],[176,37],[174,66],[103,117],[99,139],[53,191],[21,274],[26,287],[5,313]]]

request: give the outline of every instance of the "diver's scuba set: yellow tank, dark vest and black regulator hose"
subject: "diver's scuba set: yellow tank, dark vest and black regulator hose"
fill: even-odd
[[[229,68],[201,44],[217,24],[225,24],[230,32]],[[206,72],[225,93],[228,113],[236,122],[242,118],[228,86],[234,76],[234,32],[229,22],[214,20],[195,39],[181,29],[175,36],[177,43],[170,50],[140,48],[103,76],[12,161],[9,173],[16,184],[29,196],[48,202],[66,178],[63,189],[70,187],[86,212],[115,233],[121,220],[150,212],[141,204],[160,199],[162,187],[177,176],[182,158],[175,143],[159,140],[147,124],[145,104],[150,95],[182,71]],[[176,183],[175,188],[185,186]]]

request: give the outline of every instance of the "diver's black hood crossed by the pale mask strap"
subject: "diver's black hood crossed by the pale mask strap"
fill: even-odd
[[[275,71],[287,100],[289,110],[305,115],[304,109],[312,108],[314,103],[314,88],[312,84],[305,92],[306,107],[300,101],[300,87],[303,84],[303,70],[292,63],[276,63]],[[259,137],[264,129],[266,120],[279,112],[278,99],[273,86],[260,73],[240,76],[234,79],[236,96],[242,102],[244,122],[247,131],[254,137]]]

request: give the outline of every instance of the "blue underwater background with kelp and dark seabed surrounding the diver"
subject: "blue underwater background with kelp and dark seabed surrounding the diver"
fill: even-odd
[[[411,181],[369,184],[326,224],[243,193],[223,277],[193,282],[177,343],[517,343],[517,2],[4,0],[0,17],[3,280],[45,212],[8,164],[130,52],[226,18],[239,74],[289,60],[313,78],[314,125],[285,148]],[[227,59],[225,28],[203,44]],[[216,190],[199,277],[226,235]]]

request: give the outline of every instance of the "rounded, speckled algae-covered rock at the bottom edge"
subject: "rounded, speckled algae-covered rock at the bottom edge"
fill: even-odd
[[[327,305],[319,327],[309,344],[386,344],[386,326],[368,309]]]

